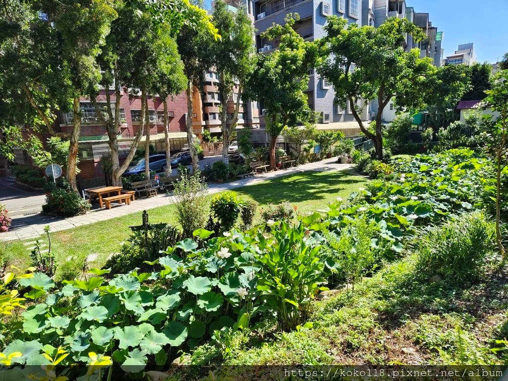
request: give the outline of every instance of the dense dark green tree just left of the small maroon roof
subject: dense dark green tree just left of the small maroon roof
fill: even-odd
[[[457,103],[472,88],[470,72],[465,65],[447,65],[429,77],[424,101],[429,111],[427,121],[435,134],[455,120]]]

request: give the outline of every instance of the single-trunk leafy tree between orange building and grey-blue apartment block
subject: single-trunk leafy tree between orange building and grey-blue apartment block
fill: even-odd
[[[307,71],[313,63],[313,45],[293,29],[299,19],[298,14],[289,14],[283,26],[271,26],[262,34],[269,40],[280,37],[280,45],[273,53],[259,57],[248,85],[249,98],[262,100],[266,109],[271,169],[275,168],[275,146],[282,130],[314,122],[315,115],[304,93],[309,80]]]

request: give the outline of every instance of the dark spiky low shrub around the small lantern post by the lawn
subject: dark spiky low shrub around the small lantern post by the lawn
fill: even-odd
[[[108,259],[105,267],[111,268],[112,274],[129,273],[135,268],[149,271],[152,266],[144,261],[153,262],[163,257],[165,254],[161,251],[176,245],[181,239],[181,232],[171,225],[149,224],[146,232],[133,232],[121,245],[120,252]]]

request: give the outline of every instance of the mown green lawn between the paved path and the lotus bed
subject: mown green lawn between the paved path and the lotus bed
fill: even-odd
[[[359,187],[365,186],[367,181],[365,177],[347,171],[302,172],[237,188],[235,192],[245,199],[256,200],[260,207],[269,203],[289,201],[298,207],[299,213],[303,214],[323,209],[337,197],[347,198]],[[150,209],[148,215],[150,223],[176,224],[175,205]],[[51,250],[60,263],[72,261],[75,266],[81,266],[86,257],[95,255],[97,259],[92,266],[101,267],[111,253],[119,251],[121,242],[129,236],[129,227],[139,224],[141,213],[133,213],[51,233]],[[40,239],[47,240],[46,237]],[[13,256],[21,267],[28,264],[29,252],[19,241],[0,245],[0,251]]]

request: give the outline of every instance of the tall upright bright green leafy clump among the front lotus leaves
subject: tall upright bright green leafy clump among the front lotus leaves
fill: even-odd
[[[295,329],[307,313],[311,298],[326,284],[325,258],[321,246],[303,224],[291,228],[282,221],[271,228],[272,236],[258,236],[263,254],[256,258],[262,268],[258,287],[267,305],[277,312],[284,331]]]

